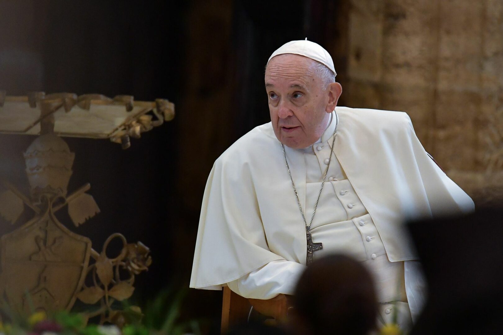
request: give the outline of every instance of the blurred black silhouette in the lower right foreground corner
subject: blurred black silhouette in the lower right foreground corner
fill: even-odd
[[[503,209],[414,222],[429,294],[411,334],[503,329]]]

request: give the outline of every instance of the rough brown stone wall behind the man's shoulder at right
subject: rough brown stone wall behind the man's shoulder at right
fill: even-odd
[[[478,205],[501,202],[503,1],[343,3],[344,102],[406,111],[426,150]]]

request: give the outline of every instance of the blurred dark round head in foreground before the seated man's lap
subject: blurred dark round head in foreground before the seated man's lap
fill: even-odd
[[[297,283],[292,331],[367,334],[375,328],[377,307],[364,266],[348,256],[327,256],[313,262]]]

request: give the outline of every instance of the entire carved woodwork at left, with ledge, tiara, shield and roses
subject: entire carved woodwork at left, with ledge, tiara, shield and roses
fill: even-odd
[[[150,114],[151,115],[150,115]],[[75,300],[94,305],[86,317],[100,316],[100,323],[123,324],[114,301],[129,298],[135,275],[151,264],[149,249],[141,242],[127,243],[115,233],[101,253],[91,240],[71,232],[55,216],[67,208],[75,226],[100,209],[86,193],[86,184],[67,195],[74,154],[56,134],[109,138],[124,149],[129,138],[160,126],[174,117],[173,103],[134,101],[132,96],[113,99],[99,94],[32,92],[9,97],[0,90],[0,132],[37,135],[24,154],[30,195],[7,180],[0,180],[0,215],[17,224],[26,207],[34,216],[0,239],[0,303],[18,311],[70,309]],[[56,131],[56,132],[55,132]],[[107,256],[110,241],[119,239],[122,249]],[[141,315],[138,307],[130,311]]]

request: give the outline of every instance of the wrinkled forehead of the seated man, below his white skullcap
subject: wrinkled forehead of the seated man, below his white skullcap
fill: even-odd
[[[315,61],[295,54],[281,54],[271,58],[266,66],[265,80],[276,78],[309,79],[314,77]]]

